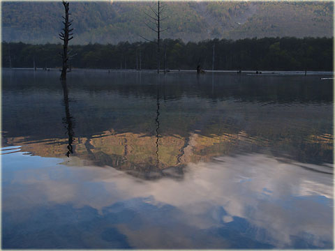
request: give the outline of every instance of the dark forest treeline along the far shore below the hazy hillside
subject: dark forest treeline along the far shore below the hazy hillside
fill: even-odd
[[[333,70],[333,38],[214,39],[199,43],[165,39],[161,43],[161,66],[165,45],[167,68],[195,70],[200,63],[210,70],[213,44],[214,70]],[[32,68],[35,61],[37,68],[60,68],[61,48],[61,44],[3,42],[2,66],[11,63],[12,67]],[[70,62],[73,68],[156,68],[156,43],[70,45],[70,50],[76,54]]]

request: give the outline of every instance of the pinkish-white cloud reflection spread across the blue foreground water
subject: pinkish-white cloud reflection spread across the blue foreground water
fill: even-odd
[[[34,201],[27,201],[31,206],[70,202],[102,213],[105,206],[117,201],[153,198],[145,203],[153,204],[158,211],[166,204],[177,208],[182,217],[170,217],[188,227],[210,229],[232,224],[238,217],[266,229],[271,244],[277,247],[290,245],[292,236],[306,234],[313,237],[309,238],[315,245],[332,241],[332,175],[303,169],[297,163],[279,162],[267,155],[237,155],[191,164],[182,180],[144,181],[115,169],[59,166],[20,169],[13,172],[10,182],[4,192],[15,199],[24,197],[22,190],[12,189],[21,185],[34,194]],[[6,211],[11,209],[5,206]],[[154,231],[150,226],[143,227],[136,233],[130,225],[120,229],[136,246],[140,238]],[[255,238],[269,241],[263,240],[262,235]]]

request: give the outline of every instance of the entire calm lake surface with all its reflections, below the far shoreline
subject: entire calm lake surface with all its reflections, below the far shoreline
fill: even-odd
[[[3,248],[333,248],[322,77],[3,70]]]

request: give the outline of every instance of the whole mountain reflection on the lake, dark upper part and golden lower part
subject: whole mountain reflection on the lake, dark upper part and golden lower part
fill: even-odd
[[[15,71],[10,78],[3,71],[3,107],[10,107],[3,109],[3,144],[63,158],[69,142],[60,119],[64,93],[59,75],[35,74]],[[70,102],[68,112],[76,121],[73,155],[96,165],[154,170],[157,146],[158,172],[237,152],[333,162],[332,82],[322,82],[320,76],[214,74],[201,76],[199,82],[191,74],[71,76],[68,84],[75,102]]]

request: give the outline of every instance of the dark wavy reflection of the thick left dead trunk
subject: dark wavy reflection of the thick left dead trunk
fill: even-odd
[[[68,151],[66,152],[66,156],[70,156],[70,153],[73,153],[73,116],[70,114],[70,108],[68,107],[68,86],[66,85],[66,80],[61,82],[61,85],[63,86],[63,93],[64,93],[64,106],[65,106],[65,114],[66,117],[63,119],[63,123],[66,124],[66,133],[68,134]]]

